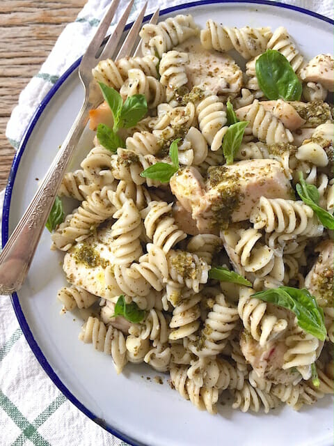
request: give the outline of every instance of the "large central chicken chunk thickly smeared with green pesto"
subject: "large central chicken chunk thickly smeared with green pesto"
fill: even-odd
[[[260,197],[291,199],[292,188],[276,160],[245,160],[210,167],[207,192],[193,208],[193,218],[223,229],[230,222],[248,220]]]

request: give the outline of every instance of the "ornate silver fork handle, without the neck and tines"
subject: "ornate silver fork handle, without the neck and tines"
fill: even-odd
[[[86,98],[42,184],[0,254],[0,294],[19,290],[26,279],[65,169],[88,121],[90,107]]]

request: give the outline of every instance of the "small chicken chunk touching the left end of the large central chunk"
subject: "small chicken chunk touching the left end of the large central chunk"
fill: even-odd
[[[200,198],[205,194],[205,183],[196,167],[186,167],[170,178],[170,189],[181,206],[192,212],[200,204]]]

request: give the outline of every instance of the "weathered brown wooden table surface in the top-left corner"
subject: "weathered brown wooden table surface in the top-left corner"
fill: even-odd
[[[47,58],[65,25],[86,0],[0,0],[0,190],[14,149],[5,136],[19,93]]]

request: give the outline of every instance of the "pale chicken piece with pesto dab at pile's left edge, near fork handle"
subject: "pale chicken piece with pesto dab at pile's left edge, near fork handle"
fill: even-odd
[[[66,254],[63,263],[67,281],[105,299],[120,295],[120,289],[107,285],[106,266],[113,262],[109,227],[99,229],[94,236],[77,243]]]

